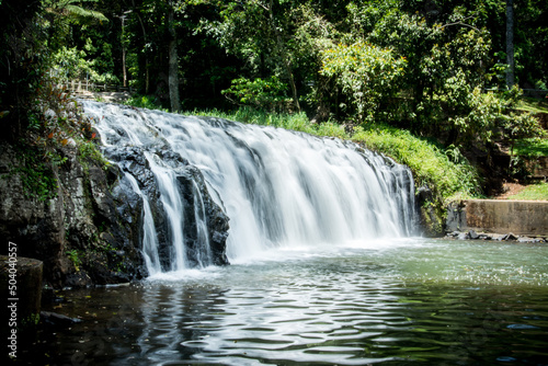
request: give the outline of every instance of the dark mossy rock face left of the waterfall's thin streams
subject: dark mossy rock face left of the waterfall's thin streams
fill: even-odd
[[[50,197],[24,187],[25,165],[18,148],[0,142],[0,235],[18,244],[21,256],[44,262],[44,282],[53,287],[113,284],[140,278],[140,228],[117,209],[111,194],[119,171],[79,155],[76,147],[55,151],[61,164],[45,162],[56,180]],[[135,216],[135,214],[133,214]]]

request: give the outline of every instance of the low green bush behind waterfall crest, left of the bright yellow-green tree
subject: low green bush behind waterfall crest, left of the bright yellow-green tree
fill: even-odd
[[[276,76],[272,76],[269,79],[235,79],[232,85],[221,91],[221,93],[237,105],[250,105],[275,111],[283,110],[283,105],[287,100],[286,91],[287,85],[279,81]]]

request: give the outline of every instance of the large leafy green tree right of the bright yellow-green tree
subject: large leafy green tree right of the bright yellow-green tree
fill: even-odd
[[[408,61],[387,122],[407,122],[415,131],[445,136],[447,145],[466,145],[477,137],[488,141],[499,107],[495,99],[482,95],[490,64],[489,33],[468,25],[461,8],[429,21],[420,13],[403,12],[395,2],[383,5],[383,11],[378,7],[351,8],[351,25]]]

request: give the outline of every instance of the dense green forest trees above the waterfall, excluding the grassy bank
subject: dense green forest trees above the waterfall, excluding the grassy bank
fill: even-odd
[[[0,7],[7,137],[30,127],[52,136],[41,103],[67,80],[130,87],[171,111],[306,113],[313,123],[386,124],[460,149],[488,147],[501,134],[539,134],[537,121],[514,106],[522,89],[545,96],[544,0]]]

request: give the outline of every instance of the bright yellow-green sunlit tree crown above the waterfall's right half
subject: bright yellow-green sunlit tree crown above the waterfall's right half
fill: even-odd
[[[358,121],[373,121],[378,105],[397,91],[406,59],[388,48],[357,42],[340,44],[321,53],[320,73],[333,78],[352,104]]]

